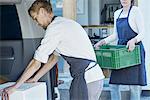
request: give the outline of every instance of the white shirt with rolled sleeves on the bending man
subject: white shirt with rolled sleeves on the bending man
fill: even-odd
[[[96,61],[95,52],[86,31],[75,21],[63,17],[56,17],[47,27],[34,59],[47,63],[49,55],[54,51],[68,57]],[[99,65],[85,72],[87,83],[103,78]]]

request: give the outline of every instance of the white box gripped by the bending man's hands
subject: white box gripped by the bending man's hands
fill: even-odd
[[[14,82],[2,84],[0,85],[0,90],[12,84],[14,84]],[[46,83],[24,83],[10,95],[10,100],[47,100]]]

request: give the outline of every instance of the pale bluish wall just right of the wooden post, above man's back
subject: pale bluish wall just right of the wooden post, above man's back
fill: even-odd
[[[106,3],[118,3],[119,0],[76,0],[77,1],[77,22],[81,25],[99,25],[101,10]],[[83,4],[82,4],[83,2]],[[83,8],[83,13],[78,13],[78,9]]]

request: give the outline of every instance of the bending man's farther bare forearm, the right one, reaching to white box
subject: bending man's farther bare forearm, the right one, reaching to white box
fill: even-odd
[[[48,62],[37,72],[37,74],[29,79],[27,82],[37,82],[43,75],[45,75],[57,63],[58,56],[51,55]]]

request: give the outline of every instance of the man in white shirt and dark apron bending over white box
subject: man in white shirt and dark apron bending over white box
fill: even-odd
[[[70,65],[73,77],[70,100],[98,100],[104,75],[96,63],[96,56],[85,30],[73,20],[54,16],[51,4],[44,0],[35,1],[28,12],[33,20],[46,29],[46,33],[21,78],[5,91],[8,94],[14,92],[40,68],[41,63],[45,63],[37,75],[29,80],[38,81],[61,55]]]

